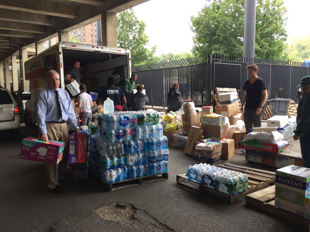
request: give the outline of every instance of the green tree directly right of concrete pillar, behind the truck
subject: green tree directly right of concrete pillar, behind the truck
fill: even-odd
[[[145,22],[139,21],[131,8],[117,14],[117,46],[129,49],[132,66],[159,62],[155,57],[156,45],[148,50],[148,36],[145,34]]]

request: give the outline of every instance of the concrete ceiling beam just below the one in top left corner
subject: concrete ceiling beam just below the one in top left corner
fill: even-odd
[[[0,8],[0,20],[39,24],[45,26],[57,26],[58,17],[51,15],[42,15],[25,11],[14,11]]]

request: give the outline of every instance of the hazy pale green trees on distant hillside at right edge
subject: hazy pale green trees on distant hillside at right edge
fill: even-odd
[[[292,61],[310,60],[310,35],[291,38],[290,43],[286,43],[284,52]]]

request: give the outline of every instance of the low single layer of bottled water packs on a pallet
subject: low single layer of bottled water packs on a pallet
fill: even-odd
[[[246,174],[206,163],[189,166],[188,179],[229,195],[238,194],[238,192],[248,189]]]

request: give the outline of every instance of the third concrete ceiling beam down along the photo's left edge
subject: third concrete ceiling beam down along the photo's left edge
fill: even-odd
[[[44,34],[47,26],[0,20],[0,29]]]

